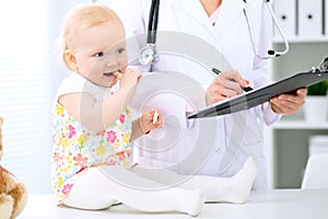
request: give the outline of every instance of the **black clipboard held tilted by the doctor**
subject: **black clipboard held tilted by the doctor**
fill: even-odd
[[[187,117],[189,119],[204,118],[249,110],[269,101],[276,95],[295,92],[300,88],[307,88],[327,79],[328,71],[320,71],[318,69],[295,73],[260,89],[242,93],[234,97],[210,105],[201,111],[189,113]]]

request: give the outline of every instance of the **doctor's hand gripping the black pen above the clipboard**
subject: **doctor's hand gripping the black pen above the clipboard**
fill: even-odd
[[[236,70],[220,72],[207,90],[207,105],[241,94],[248,84]]]

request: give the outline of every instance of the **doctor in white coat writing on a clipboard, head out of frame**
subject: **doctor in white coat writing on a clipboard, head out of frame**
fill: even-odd
[[[127,36],[147,35],[151,0],[112,0],[109,5],[124,21]],[[245,8],[251,22],[255,47],[243,11]],[[204,102],[212,104],[242,93],[241,87],[249,84],[253,88],[260,88],[269,83],[268,59],[260,56],[266,56],[270,48],[271,30],[271,15],[263,0],[248,0],[247,2],[243,0],[162,0],[157,31],[184,33],[202,39],[224,56],[231,69],[221,69],[222,73],[214,79],[209,79],[208,71],[192,64],[188,65],[178,57],[160,55],[155,65],[148,69],[141,68],[141,70],[178,70],[192,78],[196,76],[196,80],[202,80],[202,85],[207,85]],[[161,43],[160,37],[159,47]],[[185,44],[187,45],[186,42]],[[144,42],[140,41],[139,46],[140,48],[144,46]],[[204,54],[202,47],[196,44],[187,45],[186,48],[196,48],[200,54]],[[242,168],[248,157],[254,157],[259,166],[254,188],[266,188],[260,123],[271,125],[278,122],[282,114],[294,113],[304,104],[305,95],[306,89],[300,89],[295,94],[276,96],[270,102],[246,112],[207,119],[208,122],[203,123],[212,123],[208,127],[213,125],[213,120],[215,125],[215,137],[210,141],[206,139],[206,135],[197,135],[199,134],[197,125],[190,125],[186,130],[180,131],[174,146],[167,150],[159,152],[140,148],[139,162],[154,166],[171,166],[181,174],[190,174],[188,168],[194,163],[200,163],[197,170],[192,169],[196,170],[195,174],[231,176]],[[160,102],[161,100],[156,104]],[[174,104],[166,102],[165,105],[172,107]],[[195,139],[195,136],[198,139]],[[199,159],[197,155],[184,159],[192,150],[190,147],[195,146],[195,141],[203,142],[201,147],[207,147],[209,151],[208,155],[202,157],[206,159],[201,162],[197,161]],[[155,142],[143,139],[140,145],[152,143],[153,146]],[[184,162],[177,163],[180,160]]]

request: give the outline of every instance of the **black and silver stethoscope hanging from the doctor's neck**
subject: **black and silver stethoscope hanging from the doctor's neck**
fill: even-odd
[[[245,3],[246,0],[243,0]],[[267,55],[260,55],[257,50],[257,47],[255,45],[255,37],[253,32],[251,22],[248,15],[248,11],[245,8],[244,14],[246,18],[248,32],[251,39],[253,50],[255,55],[260,59],[269,59],[273,57],[283,56],[289,51],[289,43],[286,41],[286,37],[284,36],[282,28],[274,15],[274,12],[270,5],[270,0],[265,0],[265,3],[267,4],[271,18],[273,19],[274,25],[277,25],[279,34],[282,37],[283,44],[284,44],[284,50],[278,51],[274,49],[269,49],[267,51]],[[148,32],[147,32],[147,44],[143,48],[140,50],[139,61],[141,65],[153,65],[159,60],[159,54],[156,51],[156,32],[157,32],[157,23],[159,23],[159,12],[160,12],[160,0],[152,0],[151,9],[150,9],[150,15],[149,15],[149,24],[148,24]]]

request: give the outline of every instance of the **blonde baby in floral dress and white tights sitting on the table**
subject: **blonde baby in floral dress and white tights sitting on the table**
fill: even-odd
[[[130,141],[162,128],[163,118],[150,110],[131,120],[128,104],[142,74],[127,69],[125,30],[114,11],[96,3],[74,8],[63,22],[62,42],[72,72],[58,89],[52,116],[51,178],[60,203],[92,210],[122,203],[197,216],[204,200],[247,199],[257,172],[253,159],[230,178],[186,178],[132,162]],[[180,183],[169,186],[172,178]]]

